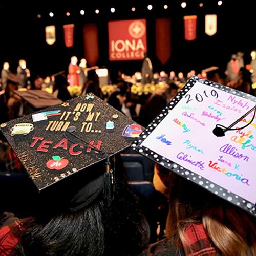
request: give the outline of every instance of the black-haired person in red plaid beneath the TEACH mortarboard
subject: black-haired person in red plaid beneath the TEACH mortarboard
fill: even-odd
[[[111,160],[112,162],[112,160]],[[104,198],[105,162],[41,191],[35,213],[0,217],[0,255],[140,255],[149,227],[117,155],[111,205]]]

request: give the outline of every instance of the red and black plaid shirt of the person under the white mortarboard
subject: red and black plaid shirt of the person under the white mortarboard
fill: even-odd
[[[190,251],[188,256],[217,256],[221,255],[214,246],[203,227],[203,224],[190,224],[185,229],[185,236],[187,237],[187,248]],[[169,256],[180,255],[185,256],[182,249],[176,250],[176,246],[167,239],[163,239],[155,244],[152,244],[144,252],[146,256]]]

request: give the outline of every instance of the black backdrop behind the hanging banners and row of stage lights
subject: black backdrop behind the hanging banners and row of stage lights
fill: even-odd
[[[210,66],[219,66],[225,70],[231,54],[242,51],[245,53],[245,63],[250,63],[250,51],[256,48],[253,1],[223,0],[218,6],[218,0],[186,0],[187,7],[181,8],[182,1],[69,1],[54,3],[37,1],[33,3],[3,1],[0,3],[0,65],[4,61],[10,63],[10,69],[16,72],[18,60],[24,58],[32,76],[45,76],[61,70],[67,70],[70,57],[84,57],[82,27],[86,23],[97,23],[99,32],[100,58],[97,65],[107,67],[112,76],[120,69],[126,74],[140,71],[142,61],[108,60],[108,21],[120,19],[146,18],[148,56],[153,63],[154,71],[175,70],[185,74],[191,69],[200,72]],[[203,7],[199,7],[203,3]],[[153,10],[148,11],[147,5],[152,4]],[[164,10],[163,5],[168,9]],[[116,12],[111,13],[110,8]],[[131,8],[136,11],[132,12]],[[80,10],[85,15],[80,15]],[[100,13],[95,14],[95,9]],[[66,16],[69,11],[71,15]],[[54,13],[54,17],[49,16]],[[37,18],[37,14],[41,18]],[[218,15],[218,31],[214,36],[204,32],[204,16]],[[184,15],[197,15],[197,39],[184,40]],[[170,17],[172,22],[172,56],[163,66],[155,57],[155,18]],[[62,25],[74,23],[74,47],[66,48]],[[49,46],[45,41],[45,26],[56,26],[56,42]]]

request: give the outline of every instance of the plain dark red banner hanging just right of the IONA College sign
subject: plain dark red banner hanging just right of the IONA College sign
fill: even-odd
[[[156,19],[156,56],[162,65],[170,58],[170,18]]]

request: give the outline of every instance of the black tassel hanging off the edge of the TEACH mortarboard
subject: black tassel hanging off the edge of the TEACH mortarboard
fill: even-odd
[[[106,159],[106,171],[104,173],[103,195],[107,205],[110,206],[114,198],[114,176],[113,176],[113,170],[111,169],[109,157]]]

